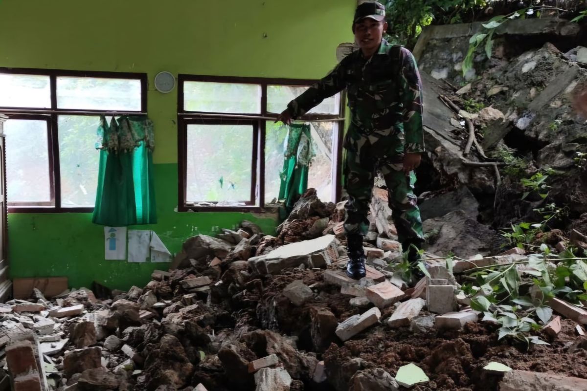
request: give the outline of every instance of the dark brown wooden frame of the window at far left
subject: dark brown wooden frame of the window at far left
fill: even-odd
[[[21,120],[46,120],[48,121],[48,145],[49,145],[49,185],[53,205],[39,205],[40,203],[26,202],[26,206],[20,202],[8,203],[8,213],[91,213],[93,207],[66,208],[61,205],[61,171],[59,166],[59,115],[119,115],[147,114],[147,90],[149,79],[146,73],[136,72],[102,72],[63,69],[36,69],[36,68],[8,68],[0,67],[0,74],[31,74],[49,76],[49,91],[51,98],[50,108],[35,107],[7,107],[0,106],[0,114],[8,115],[8,119]],[[57,77],[95,77],[104,79],[137,79],[141,82],[141,110],[140,111],[116,111],[116,110],[71,110],[57,107]],[[9,145],[10,141],[6,140]],[[10,148],[8,146],[8,148]],[[6,153],[6,151],[5,151]],[[16,204],[16,205],[15,205]],[[24,203],[22,203],[24,204]]]

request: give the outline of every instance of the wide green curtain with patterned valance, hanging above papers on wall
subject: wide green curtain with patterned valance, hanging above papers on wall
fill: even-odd
[[[92,222],[110,227],[157,222],[153,123],[144,116],[100,118],[100,166]]]

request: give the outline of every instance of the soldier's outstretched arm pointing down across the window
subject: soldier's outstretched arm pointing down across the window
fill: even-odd
[[[342,63],[339,63],[335,69],[319,80],[303,94],[289,102],[288,108],[279,115],[277,121],[291,123],[303,114],[308,113],[313,107],[318,106],[323,100],[333,96],[345,89],[345,70]]]

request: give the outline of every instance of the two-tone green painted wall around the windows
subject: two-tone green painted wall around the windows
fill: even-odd
[[[187,237],[243,219],[273,232],[272,219],[243,213],[177,213],[177,94],[152,85],[171,73],[317,79],[350,42],[356,0],[0,0],[0,66],[149,74],[156,127],[158,223],[175,252]],[[9,152],[8,152],[9,153]],[[145,284],[154,268],[104,260],[103,227],[85,213],[8,216],[12,277],[68,276],[70,285]]]

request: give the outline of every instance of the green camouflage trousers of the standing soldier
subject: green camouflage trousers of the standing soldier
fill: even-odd
[[[364,139],[364,140],[361,140]],[[349,139],[347,139],[349,140]],[[345,204],[345,232],[363,234],[369,229],[369,205],[376,171],[379,170],[389,192],[389,207],[397,229],[399,242],[407,251],[409,244],[421,247],[424,240],[420,209],[414,195],[416,174],[402,171],[404,145],[403,134],[371,138],[354,135],[352,144],[345,143],[345,189],[349,198]],[[354,148],[353,148],[354,147]]]

